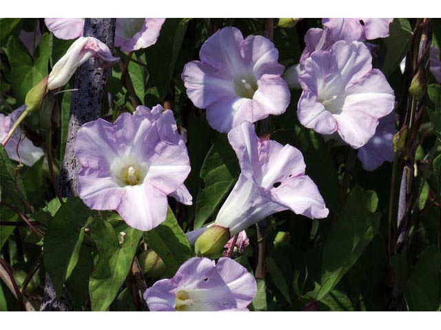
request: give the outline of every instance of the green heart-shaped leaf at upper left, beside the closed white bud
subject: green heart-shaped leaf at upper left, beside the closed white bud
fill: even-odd
[[[43,34],[34,53],[34,60],[19,39],[12,36],[7,53],[11,65],[11,85],[18,104],[25,103],[28,91],[48,75],[49,34]]]

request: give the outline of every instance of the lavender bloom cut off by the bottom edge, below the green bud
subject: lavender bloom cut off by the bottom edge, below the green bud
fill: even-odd
[[[192,258],[173,278],[154,283],[144,299],[150,311],[247,311],[256,296],[252,274],[229,258]]]

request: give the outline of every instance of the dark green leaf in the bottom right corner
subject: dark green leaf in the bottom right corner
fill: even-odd
[[[440,308],[441,252],[436,245],[424,250],[403,287],[409,311],[436,311]]]

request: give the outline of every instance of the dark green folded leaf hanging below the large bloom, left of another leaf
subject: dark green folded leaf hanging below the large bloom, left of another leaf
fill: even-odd
[[[48,222],[44,237],[43,261],[54,284],[57,297],[61,296],[63,283],[72,274],[79,259],[84,228],[78,228],[90,217],[90,209],[81,199],[68,199]]]

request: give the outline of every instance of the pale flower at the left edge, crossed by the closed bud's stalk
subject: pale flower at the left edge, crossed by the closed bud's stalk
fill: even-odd
[[[17,121],[23,111],[25,111],[25,105],[14,110],[9,115],[3,115],[0,113],[0,141],[3,141],[12,128],[12,125]],[[19,146],[18,150],[17,145]],[[35,162],[43,156],[43,150],[38,146],[34,146],[31,140],[22,134],[20,128],[17,128],[12,137],[10,137],[5,149],[10,159],[14,159],[17,162],[21,160],[26,166],[34,165]]]

